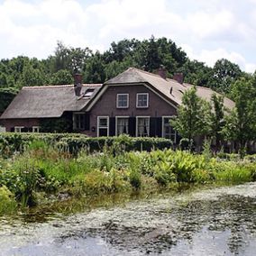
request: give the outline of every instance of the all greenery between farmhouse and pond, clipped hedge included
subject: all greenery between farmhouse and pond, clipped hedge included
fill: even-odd
[[[0,134],[0,215],[69,198],[256,180],[253,155],[239,160],[235,154],[213,157],[207,149],[201,154],[173,151],[167,140],[137,142],[125,135],[112,138],[111,143],[100,138],[100,151],[95,151],[81,143],[87,138],[70,136]],[[75,142],[80,145],[76,151],[71,147]]]

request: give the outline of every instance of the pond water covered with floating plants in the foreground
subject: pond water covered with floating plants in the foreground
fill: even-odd
[[[256,183],[117,201],[1,217],[0,255],[256,253]]]

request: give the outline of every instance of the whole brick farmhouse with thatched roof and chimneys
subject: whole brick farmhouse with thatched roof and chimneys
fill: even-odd
[[[192,87],[183,75],[166,77],[165,69],[152,74],[130,68],[101,84],[23,87],[2,114],[7,132],[79,132],[89,136],[153,136],[178,141],[169,124],[177,114],[184,92]],[[210,100],[214,91],[197,87]],[[224,105],[234,103],[224,98]],[[60,129],[60,131],[59,131]]]

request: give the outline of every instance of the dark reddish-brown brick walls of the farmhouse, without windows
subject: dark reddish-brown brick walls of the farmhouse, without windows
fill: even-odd
[[[148,107],[138,108],[136,106],[137,94],[146,93],[148,94]],[[129,95],[129,106],[127,108],[118,108],[116,106],[116,100],[118,94]],[[81,112],[80,112],[81,113]],[[176,115],[176,107],[170,105],[165,99],[158,96],[149,87],[143,85],[133,86],[109,86],[103,93],[103,95],[96,101],[96,104],[87,113],[89,118],[89,125],[86,133],[89,136],[96,137],[97,134],[97,117],[107,116],[109,118],[108,132],[110,136],[116,134],[115,117],[129,117],[130,121],[133,119],[133,129],[130,129],[129,134],[132,136],[136,135],[136,116],[150,117],[151,122],[151,136],[161,136],[162,129],[162,116]],[[71,116],[69,116],[69,119]],[[14,132],[14,127],[23,126],[23,132],[32,132],[32,126],[40,126],[41,119],[5,119],[2,120],[2,125],[5,126],[6,132]],[[153,125],[153,126],[152,126]],[[131,126],[132,127],[132,126]],[[133,133],[132,133],[133,130]],[[152,131],[154,130],[154,131]]]

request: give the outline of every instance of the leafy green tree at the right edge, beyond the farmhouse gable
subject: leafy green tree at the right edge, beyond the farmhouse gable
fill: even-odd
[[[255,140],[256,133],[256,79],[241,78],[233,85],[231,95],[235,107],[226,115],[223,129],[226,140],[238,143],[241,158],[248,142]]]

